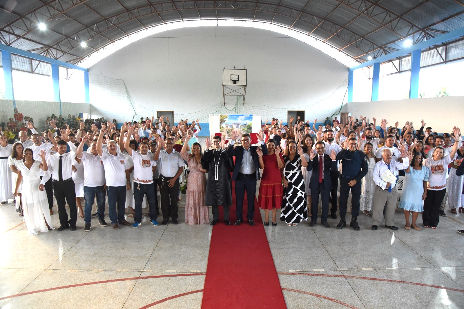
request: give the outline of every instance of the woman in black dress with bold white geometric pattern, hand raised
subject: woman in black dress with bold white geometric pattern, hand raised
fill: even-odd
[[[298,148],[298,153],[296,149]],[[295,141],[289,141],[284,155],[284,196],[280,220],[287,222],[288,226],[296,226],[299,222],[308,220],[306,197],[304,191],[304,179],[302,167],[308,166],[301,145],[298,147]]]

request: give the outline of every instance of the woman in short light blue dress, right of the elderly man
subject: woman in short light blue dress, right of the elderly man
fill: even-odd
[[[427,181],[429,180],[429,169],[422,167],[422,154],[409,153],[409,167],[406,168],[406,177],[403,185],[403,195],[398,207],[404,209],[406,225],[405,229],[420,229],[416,225],[419,212],[424,211],[424,199],[427,195]],[[412,212],[412,223],[409,225],[409,213]]]

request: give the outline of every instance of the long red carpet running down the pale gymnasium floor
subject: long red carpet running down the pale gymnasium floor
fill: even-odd
[[[219,223],[213,227],[211,236],[201,308],[287,308],[256,199],[256,225],[246,222],[246,194],[245,222],[233,225],[236,220],[233,183],[229,218],[232,225],[224,224],[222,207],[219,207]]]

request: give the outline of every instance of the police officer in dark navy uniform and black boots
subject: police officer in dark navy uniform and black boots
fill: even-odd
[[[337,160],[342,161],[342,179],[340,179],[340,222],[337,229],[347,225],[348,193],[351,190],[351,223],[350,226],[359,231],[357,219],[359,214],[359,199],[361,197],[361,179],[367,174],[366,155],[357,150],[358,143],[354,137],[345,140],[342,151],[337,154]]]

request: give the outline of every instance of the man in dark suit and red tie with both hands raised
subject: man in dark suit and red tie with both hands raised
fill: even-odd
[[[326,228],[330,228],[327,222],[329,216],[329,197],[332,190],[332,180],[330,178],[330,169],[337,170],[337,161],[335,151],[324,154],[324,142],[316,142],[315,154],[313,151],[309,154],[308,171],[313,171],[309,180],[309,189],[311,189],[311,222],[309,226],[313,227],[317,221],[317,204],[319,203],[319,194],[322,199],[322,216],[321,224]]]

